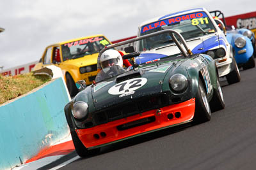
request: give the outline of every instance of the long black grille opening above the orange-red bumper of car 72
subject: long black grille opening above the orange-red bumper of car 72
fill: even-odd
[[[159,96],[143,97],[142,99],[118,104],[118,106],[111,107],[109,110],[95,113],[95,124],[104,124],[120,118],[161,108],[163,106],[167,106],[168,103],[168,96],[166,94],[161,94]]]

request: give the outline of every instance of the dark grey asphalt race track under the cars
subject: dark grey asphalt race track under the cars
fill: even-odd
[[[211,121],[165,129],[102,148],[60,169],[256,169],[256,68],[221,86],[226,107]],[[76,157],[72,152],[40,169]]]

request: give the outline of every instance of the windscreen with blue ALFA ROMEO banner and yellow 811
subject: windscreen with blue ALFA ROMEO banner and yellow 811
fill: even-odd
[[[184,39],[192,39],[216,32],[216,29],[208,15],[201,11],[180,15],[178,17],[165,18],[163,20],[158,20],[157,22],[144,25],[140,29],[140,36],[165,29],[173,29],[179,32]],[[173,43],[171,36],[167,33],[161,34],[139,41],[138,50],[142,52],[159,46],[165,46],[170,43]]]

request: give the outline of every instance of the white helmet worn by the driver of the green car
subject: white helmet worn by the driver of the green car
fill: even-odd
[[[100,66],[102,67],[104,73],[109,71],[112,66],[123,67],[123,59],[121,54],[113,49],[106,50],[100,56]]]

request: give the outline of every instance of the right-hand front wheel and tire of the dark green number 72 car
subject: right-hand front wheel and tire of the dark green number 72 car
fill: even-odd
[[[204,84],[202,81],[198,80],[198,90],[196,92],[196,108],[195,108],[195,117],[193,122],[195,124],[200,124],[211,120],[211,108],[209,101],[204,89]]]

